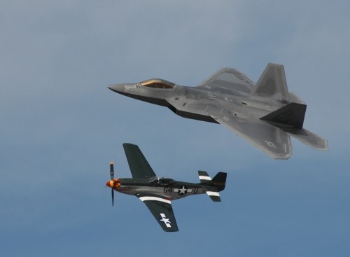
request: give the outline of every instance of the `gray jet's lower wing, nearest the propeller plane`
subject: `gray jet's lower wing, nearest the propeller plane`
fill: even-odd
[[[262,120],[248,120],[236,116],[212,117],[271,158],[288,159],[292,155],[290,136],[279,127]]]

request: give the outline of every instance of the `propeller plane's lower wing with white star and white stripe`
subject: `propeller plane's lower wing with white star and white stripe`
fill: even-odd
[[[147,205],[163,230],[179,231],[170,200],[155,194],[137,194],[137,197]]]

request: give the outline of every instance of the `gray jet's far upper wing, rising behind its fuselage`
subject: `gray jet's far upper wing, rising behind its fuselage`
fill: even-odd
[[[233,68],[223,68],[203,81],[198,88],[221,91],[226,94],[247,95],[253,90],[253,81]]]

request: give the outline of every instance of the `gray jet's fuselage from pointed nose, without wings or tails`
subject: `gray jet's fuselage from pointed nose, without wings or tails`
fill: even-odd
[[[151,104],[165,106],[183,118],[218,123],[213,117],[214,112],[221,113],[230,110],[230,115],[241,118],[260,118],[271,111],[279,109],[279,102],[269,103],[263,99],[251,99],[246,88],[244,92],[228,94],[228,92],[211,91],[203,88],[193,88],[174,85],[174,88],[149,88],[139,83],[115,84],[109,88],[120,95],[132,97]]]

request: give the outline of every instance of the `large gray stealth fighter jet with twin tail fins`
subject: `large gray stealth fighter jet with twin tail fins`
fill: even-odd
[[[328,150],[325,139],[302,127],[307,106],[288,92],[280,64],[267,64],[257,83],[237,69],[223,68],[195,88],[158,78],[109,88],[166,106],[184,118],[220,123],[274,159],[290,158],[290,136],[316,150]]]

